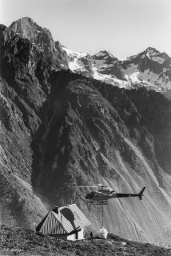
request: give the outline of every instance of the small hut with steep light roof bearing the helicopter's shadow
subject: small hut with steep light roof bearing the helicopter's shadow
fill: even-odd
[[[56,206],[38,224],[36,232],[74,241],[84,238],[84,227],[89,225],[91,223],[76,204]]]

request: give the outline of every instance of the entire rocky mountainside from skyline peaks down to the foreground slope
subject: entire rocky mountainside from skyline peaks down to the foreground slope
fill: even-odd
[[[159,84],[168,55],[149,48],[121,62],[106,51],[80,54],[78,62],[30,18],[0,28],[0,222],[33,228],[51,207],[74,202],[93,229],[102,225],[103,208],[109,232],[169,243],[171,101],[142,86],[147,69]],[[94,70],[112,74],[115,86],[94,79]],[[137,89],[120,88],[121,82]],[[159,85],[153,82],[153,88]],[[121,193],[146,186],[145,196],[93,206],[85,199],[90,188],[78,186],[97,183]]]

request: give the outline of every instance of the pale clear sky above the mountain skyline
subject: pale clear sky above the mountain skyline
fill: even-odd
[[[22,17],[77,52],[126,58],[152,46],[171,56],[171,0],[0,0],[0,23]]]

